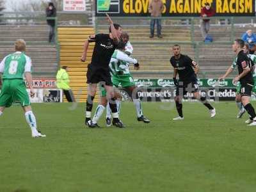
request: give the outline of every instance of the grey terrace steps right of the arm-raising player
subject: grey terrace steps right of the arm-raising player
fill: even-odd
[[[106,33],[107,27],[100,27],[99,32]],[[239,38],[248,28],[236,26],[234,36]],[[250,27],[250,29],[255,29]],[[212,26],[210,34],[212,44],[204,44],[199,26],[195,26],[195,42],[192,44],[191,29],[188,26],[164,26],[163,39],[148,38],[147,26],[124,26],[134,46],[133,56],[141,63],[140,71],[132,71],[135,77],[172,77],[170,72],[170,47],[180,44],[182,52],[200,63],[200,77],[218,77],[233,60],[231,49],[230,26]]]

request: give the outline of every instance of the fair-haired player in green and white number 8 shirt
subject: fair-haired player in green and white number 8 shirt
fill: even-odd
[[[31,128],[32,137],[45,137],[36,129],[36,118],[32,112],[24,76],[29,84],[31,97],[35,96],[33,90],[33,80],[31,76],[31,59],[24,54],[26,42],[17,40],[15,51],[6,56],[0,63],[0,73],[2,74],[3,84],[0,93],[0,116],[3,115],[5,108],[9,108],[13,103],[19,102],[24,110],[26,121]]]

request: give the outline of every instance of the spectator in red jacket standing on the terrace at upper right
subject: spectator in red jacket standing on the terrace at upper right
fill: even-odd
[[[205,3],[205,6],[202,7],[201,9],[202,19],[200,20],[200,28],[201,28],[201,32],[204,40],[207,37],[210,29],[210,19],[204,19],[204,17],[212,17],[214,14],[215,14],[215,11],[213,8],[211,8],[210,4]]]

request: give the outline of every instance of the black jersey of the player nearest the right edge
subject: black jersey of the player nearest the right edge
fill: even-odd
[[[240,51],[237,55],[237,69],[239,75],[243,73],[244,68],[249,67],[252,68],[252,60],[248,58],[248,56],[242,51]],[[253,77],[252,77],[252,72],[248,72],[245,76],[243,76],[240,80],[241,84],[253,84]]]

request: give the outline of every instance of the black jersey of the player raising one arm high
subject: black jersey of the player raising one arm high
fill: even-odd
[[[108,68],[111,56],[116,49],[116,44],[108,34],[97,34],[94,38],[90,37],[89,42],[95,42],[92,54],[92,66]]]

